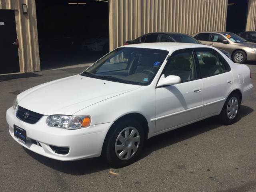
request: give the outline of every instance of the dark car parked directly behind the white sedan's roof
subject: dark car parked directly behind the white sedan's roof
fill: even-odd
[[[138,44],[138,43],[153,43],[153,42],[176,42],[176,43],[195,43],[202,44],[192,36],[183,33],[176,32],[154,32],[144,34],[134,40],[129,40],[124,43],[124,45]],[[228,58],[231,59],[229,52],[219,49]]]

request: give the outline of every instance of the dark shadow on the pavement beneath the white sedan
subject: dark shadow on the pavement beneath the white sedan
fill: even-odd
[[[240,106],[240,113],[238,114],[238,120],[252,113],[253,109],[247,106]],[[216,116],[202,120],[200,122],[196,122],[176,130],[172,130],[166,132],[164,134],[160,134],[153,138],[150,138],[145,142],[144,150],[142,152],[142,156],[140,159],[145,158],[150,155],[152,152],[164,148],[166,146],[170,146],[172,144],[181,142],[188,138],[192,138],[204,132],[216,129],[222,126],[219,123],[218,118]],[[85,160],[77,160],[71,162],[63,162],[58,160],[53,160],[39,154],[36,154],[26,148],[24,150],[30,155],[32,158],[37,160],[38,162],[60,172],[64,172],[66,174],[72,175],[84,175],[90,174],[94,172],[99,172],[102,170],[107,170],[110,168],[108,164],[102,158],[90,158]]]

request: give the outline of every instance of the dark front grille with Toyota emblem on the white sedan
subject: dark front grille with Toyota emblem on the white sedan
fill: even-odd
[[[19,118],[20,120],[30,123],[30,124],[35,124],[40,120],[40,118],[44,115],[30,111],[28,109],[25,109],[21,106],[17,106],[17,111],[16,111],[16,117]],[[27,118],[24,117],[24,113],[28,113]]]

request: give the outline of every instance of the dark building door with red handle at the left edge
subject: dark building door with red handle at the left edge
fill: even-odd
[[[0,9],[0,74],[20,72],[14,10]]]

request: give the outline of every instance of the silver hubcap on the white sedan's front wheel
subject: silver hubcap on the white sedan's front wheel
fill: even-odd
[[[135,127],[124,128],[116,138],[115,151],[120,160],[132,158],[140,145],[140,134]]]

